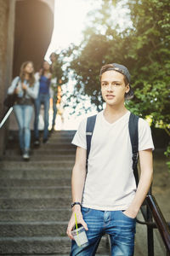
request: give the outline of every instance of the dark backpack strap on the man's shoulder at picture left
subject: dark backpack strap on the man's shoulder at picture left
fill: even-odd
[[[88,155],[90,153],[91,148],[91,140],[94,133],[94,125],[96,121],[96,114],[88,117],[87,125],[86,125],[86,142],[87,142],[87,157],[86,157],[86,166],[88,169]]]

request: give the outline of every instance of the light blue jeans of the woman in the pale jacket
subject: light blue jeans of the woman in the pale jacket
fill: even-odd
[[[14,105],[14,114],[19,125],[20,149],[29,149],[31,142],[30,123],[33,107],[30,105]]]

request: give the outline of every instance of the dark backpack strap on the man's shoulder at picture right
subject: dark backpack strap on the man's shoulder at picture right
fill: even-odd
[[[130,141],[133,151],[133,174],[135,177],[136,185],[139,183],[139,172],[138,172],[138,154],[139,154],[139,117],[133,113],[130,113],[128,121],[128,131],[130,135]]]

